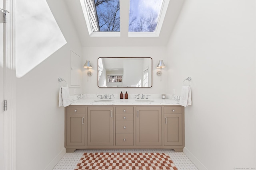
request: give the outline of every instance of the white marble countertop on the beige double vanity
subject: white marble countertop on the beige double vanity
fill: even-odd
[[[179,105],[177,101],[162,98],[150,99],[100,99],[82,98],[72,102],[70,105]]]

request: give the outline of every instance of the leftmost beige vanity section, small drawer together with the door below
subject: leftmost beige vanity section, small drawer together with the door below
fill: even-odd
[[[66,113],[65,146],[85,146],[85,107],[66,107]]]

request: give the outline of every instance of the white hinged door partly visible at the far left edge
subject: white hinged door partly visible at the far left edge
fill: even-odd
[[[0,0],[0,8],[3,8]],[[0,170],[4,170],[4,55],[3,23],[0,23]]]

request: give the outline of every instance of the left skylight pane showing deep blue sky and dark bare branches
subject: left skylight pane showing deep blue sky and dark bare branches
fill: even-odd
[[[98,17],[98,31],[120,31],[119,0],[94,0],[94,2]]]

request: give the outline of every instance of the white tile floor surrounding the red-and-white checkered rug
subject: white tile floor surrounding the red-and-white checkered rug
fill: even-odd
[[[52,170],[74,170],[85,152],[158,152],[168,154],[178,170],[198,170],[188,159],[184,152],[174,152],[171,149],[113,149],[113,150],[76,150],[74,153],[66,153],[60,162]]]

